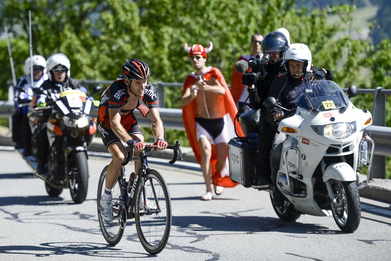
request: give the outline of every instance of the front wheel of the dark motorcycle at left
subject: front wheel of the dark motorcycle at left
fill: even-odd
[[[88,164],[85,151],[76,151],[70,157],[69,166],[69,190],[72,200],[79,204],[87,196],[88,189]]]

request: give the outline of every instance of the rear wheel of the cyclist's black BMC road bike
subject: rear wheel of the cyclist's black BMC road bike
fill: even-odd
[[[102,218],[100,215],[100,198],[104,191],[104,185],[106,180],[107,167],[104,167],[102,173],[99,178],[98,185],[98,194],[97,194],[97,208],[98,208],[98,220],[100,230],[102,231],[104,239],[106,239],[107,243],[110,245],[117,245],[121,240],[122,235],[124,234],[124,227],[121,226],[121,220],[113,220],[112,222],[108,222]],[[124,191],[122,189],[122,184],[120,179],[117,180],[113,187],[113,215],[117,215],[120,209],[120,195],[123,195]]]

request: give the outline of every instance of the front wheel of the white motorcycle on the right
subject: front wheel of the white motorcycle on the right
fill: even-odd
[[[333,180],[332,189],[335,203],[331,203],[331,211],[335,223],[343,232],[352,233],[360,225],[361,202],[355,182]]]

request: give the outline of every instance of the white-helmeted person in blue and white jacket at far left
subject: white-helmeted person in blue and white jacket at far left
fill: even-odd
[[[16,147],[23,148],[23,155],[25,157],[31,154],[29,142],[31,139],[31,131],[27,118],[29,106],[20,107],[20,104],[30,103],[33,97],[32,88],[41,86],[41,84],[48,79],[46,74],[46,59],[43,56],[32,56],[33,84],[31,84],[30,66],[31,62],[29,57],[25,60],[23,67],[25,76],[19,79],[18,84],[15,87],[15,112],[13,115],[13,136],[20,137],[18,140],[19,146],[16,145]]]

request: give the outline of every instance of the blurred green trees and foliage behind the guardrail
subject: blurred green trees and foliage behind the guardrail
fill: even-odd
[[[76,79],[115,80],[126,58],[139,58],[151,67],[149,81],[181,83],[193,69],[183,43],[212,41],[207,65],[218,67],[230,83],[235,61],[250,52],[251,35],[285,27],[291,43],[307,44],[312,63],[330,69],[341,87],[390,88],[389,0],[0,0],[0,29],[9,29],[18,77],[29,56],[29,10],[33,53],[47,58],[63,52]],[[11,69],[4,33],[0,71],[5,100]],[[180,108],[180,96],[181,88],[165,88],[165,106]],[[371,110],[372,99],[358,95],[352,101]],[[387,126],[390,106],[387,97]],[[186,140],[182,131],[166,136]],[[391,177],[389,158],[387,164]]]

